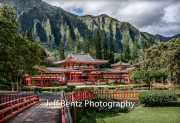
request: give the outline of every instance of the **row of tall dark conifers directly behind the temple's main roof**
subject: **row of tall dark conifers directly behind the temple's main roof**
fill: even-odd
[[[71,32],[69,31],[69,36],[67,38],[67,48],[63,46],[63,42],[60,42],[59,47],[59,59],[65,59],[65,52],[75,52],[75,53],[90,53],[90,55],[95,59],[109,60],[107,65],[101,67],[110,67],[110,64],[114,63],[114,46],[109,41],[107,41],[105,30],[102,31],[102,37],[100,31],[97,30],[96,35],[93,35],[92,41],[90,41],[87,30],[85,30],[85,35],[83,37],[84,41],[80,41],[79,34],[76,34],[75,41],[72,40]],[[83,43],[83,44],[82,44]]]

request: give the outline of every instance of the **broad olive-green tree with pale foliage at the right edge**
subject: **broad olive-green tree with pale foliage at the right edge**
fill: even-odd
[[[175,39],[161,42],[141,53],[139,66],[141,70],[167,70],[169,71],[169,85],[174,85],[180,78],[180,47]]]

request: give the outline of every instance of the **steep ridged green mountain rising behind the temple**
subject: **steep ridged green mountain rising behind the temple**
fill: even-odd
[[[105,14],[78,16],[60,7],[51,6],[42,0],[0,0],[0,3],[12,6],[17,12],[15,19],[19,23],[21,32],[25,33],[29,27],[33,28],[35,41],[50,52],[58,50],[61,39],[66,46],[69,30],[71,30],[73,40],[78,33],[81,43],[83,43],[85,30],[92,39],[97,29],[102,31],[104,28],[107,38],[114,44],[116,53],[123,46],[124,35],[129,35],[131,51],[135,37],[138,40],[139,49],[143,48],[144,40],[150,37],[154,44],[173,38],[140,32],[128,22],[120,22]],[[175,37],[180,37],[180,34]]]

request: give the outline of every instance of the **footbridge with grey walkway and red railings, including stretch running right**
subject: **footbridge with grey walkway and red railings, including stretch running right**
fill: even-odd
[[[0,95],[0,123],[72,123],[69,108],[60,102],[75,102],[86,99],[127,99],[137,100],[140,91],[97,90],[74,93],[40,93]],[[48,103],[48,106],[47,106]],[[51,104],[51,106],[49,106]]]

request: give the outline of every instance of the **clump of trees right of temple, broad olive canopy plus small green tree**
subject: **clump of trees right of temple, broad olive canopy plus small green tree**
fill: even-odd
[[[145,79],[148,83],[152,80],[154,83],[157,80],[162,83],[167,81],[169,85],[174,85],[175,82],[178,83],[180,78],[179,42],[179,38],[171,39],[168,42],[161,42],[158,45],[145,48],[141,56],[135,59],[132,65],[137,70],[144,71],[132,73],[131,78]]]

